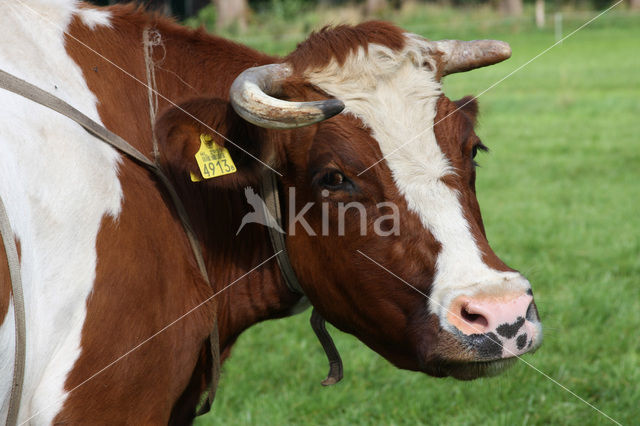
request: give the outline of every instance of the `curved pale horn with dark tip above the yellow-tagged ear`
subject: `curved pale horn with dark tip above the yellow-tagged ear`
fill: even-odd
[[[344,104],[338,99],[289,102],[274,98],[282,82],[291,75],[285,64],[270,64],[244,70],[231,85],[233,109],[256,126],[294,129],[318,123],[339,114]]]

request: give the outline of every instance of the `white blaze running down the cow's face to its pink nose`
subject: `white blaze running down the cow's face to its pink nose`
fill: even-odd
[[[522,292],[529,283],[519,273],[496,271],[483,262],[457,192],[442,182],[455,174],[433,131],[442,86],[428,42],[412,34],[406,40],[400,52],[370,44],[342,66],[333,61],[305,76],[371,129],[398,191],[440,242],[429,308],[451,330],[446,314],[456,296]]]

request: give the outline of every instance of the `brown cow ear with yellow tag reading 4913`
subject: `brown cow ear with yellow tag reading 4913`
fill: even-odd
[[[184,184],[229,189],[255,185],[264,163],[275,157],[268,132],[242,120],[222,99],[190,99],[170,107],[157,119],[155,131],[160,165]],[[202,170],[196,155],[206,158],[211,152],[213,161]]]

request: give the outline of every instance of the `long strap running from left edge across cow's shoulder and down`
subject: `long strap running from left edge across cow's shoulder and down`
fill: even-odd
[[[169,194],[169,197],[171,198],[171,201],[173,202],[173,205],[176,209],[176,213],[180,218],[180,222],[182,222],[182,226],[185,230],[187,238],[189,239],[189,243],[191,244],[191,249],[193,250],[193,254],[196,259],[196,263],[198,264],[198,268],[200,269],[200,272],[202,274],[202,277],[207,282],[207,284],[209,284],[209,286],[211,287],[211,282],[209,281],[209,276],[207,275],[207,270],[205,268],[204,257],[200,249],[200,244],[198,242],[198,239],[195,233],[193,232],[193,228],[191,226],[191,222],[189,221],[189,217],[184,208],[184,205],[182,204],[182,201],[180,200],[180,197],[178,196],[178,193],[176,192],[175,188],[171,184],[171,181],[169,181],[167,176],[162,172],[162,170],[160,169],[160,167],[158,167],[156,163],[149,160],[140,151],[135,149],[133,146],[127,143],[120,136],[107,130],[105,127],[101,126],[100,124],[96,123],[95,121],[93,121],[92,119],[90,119],[89,117],[87,117],[86,115],[84,115],[83,113],[81,113],[76,108],[72,107],[62,99],[52,95],[49,92],[46,92],[40,89],[37,86],[34,86],[31,83],[28,83],[22,79],[19,79],[3,70],[0,70],[0,88],[13,92],[17,95],[23,96],[27,99],[30,99],[33,102],[36,102],[40,105],[50,108],[72,119],[73,121],[81,125],[87,132],[89,132],[93,136],[97,137],[98,139],[102,140],[108,145],[111,145],[112,147],[116,148],[120,152],[133,158],[138,163],[145,166],[150,172],[152,172],[156,176],[156,178],[164,185],[167,193]],[[10,237],[11,238],[5,238],[3,236],[3,240],[5,244],[7,244],[8,240],[13,241],[13,236],[11,234],[10,234]],[[7,252],[7,256],[9,256],[8,252]],[[13,274],[11,276],[11,279],[12,279],[12,285],[15,285],[15,282],[13,281],[14,280]],[[213,289],[213,287],[211,288]],[[22,292],[20,291],[20,295],[21,294]],[[16,298],[16,293],[14,290],[14,306],[16,304],[15,298]],[[206,399],[203,401],[196,415],[204,414],[208,412],[209,409],[211,408],[211,404],[213,403],[213,399],[215,397],[215,391],[218,386],[218,381],[220,378],[220,344],[219,344],[219,337],[218,337],[218,315],[217,315],[218,309],[217,308],[218,306],[216,303],[214,305],[213,330],[209,335],[211,363],[212,363],[211,385],[209,387]],[[22,320],[22,323],[24,324],[24,320]],[[18,325],[19,324],[16,321],[16,333],[18,333],[19,331],[17,329]],[[22,335],[24,336],[24,333],[22,333]],[[16,347],[16,350],[17,350],[17,347]],[[24,359],[24,353],[22,354],[22,358]],[[22,361],[22,365],[24,366],[24,361]],[[16,380],[15,373],[17,372],[18,371],[14,370],[14,382]],[[15,388],[13,388],[12,392],[15,392]],[[12,402],[14,400],[19,401],[19,399],[20,399],[19,396],[16,396],[14,398],[14,394],[12,393],[11,395]],[[18,409],[16,408],[16,411],[17,410]],[[11,407],[10,407],[10,412],[11,412]]]

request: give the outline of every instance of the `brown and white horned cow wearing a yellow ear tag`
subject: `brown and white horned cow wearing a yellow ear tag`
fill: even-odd
[[[252,324],[292,312],[300,296],[275,260],[252,271],[273,255],[267,229],[248,224],[235,235],[252,211],[243,188],[271,173],[261,162],[282,175],[285,209],[314,203],[305,220],[317,235],[296,222],[287,246],[310,302],[339,329],[400,368],[464,379],[497,373],[539,346],[530,285],[485,237],[475,197],[473,156],[483,148],[476,102],[442,93],[443,75],[472,67],[453,61],[452,42],[372,22],[322,30],[277,58],[132,6],[16,0],[2,8],[0,68],[142,152],[151,154],[155,129],[160,163],[186,204],[214,286],[147,170],[71,120],[0,90],[0,196],[20,244],[27,317],[21,422],[189,422],[209,380],[210,304],[110,364],[249,271],[216,298],[223,357]],[[159,34],[156,123],[141,84],[145,28]],[[509,56],[497,46],[471,62]],[[241,72],[269,64],[249,72],[234,95],[260,127],[235,112],[229,93]],[[289,113],[299,118],[300,108],[326,113],[293,101],[321,101],[335,113],[336,99],[345,106],[339,115],[277,128],[292,127]],[[191,181],[203,133],[228,148],[236,173]],[[354,211],[344,236],[323,234],[322,216],[336,229],[338,207],[349,202],[364,206],[370,232],[362,235]],[[388,214],[380,202],[397,206],[398,232],[372,232]],[[1,421],[14,329],[4,260],[0,285]]]

